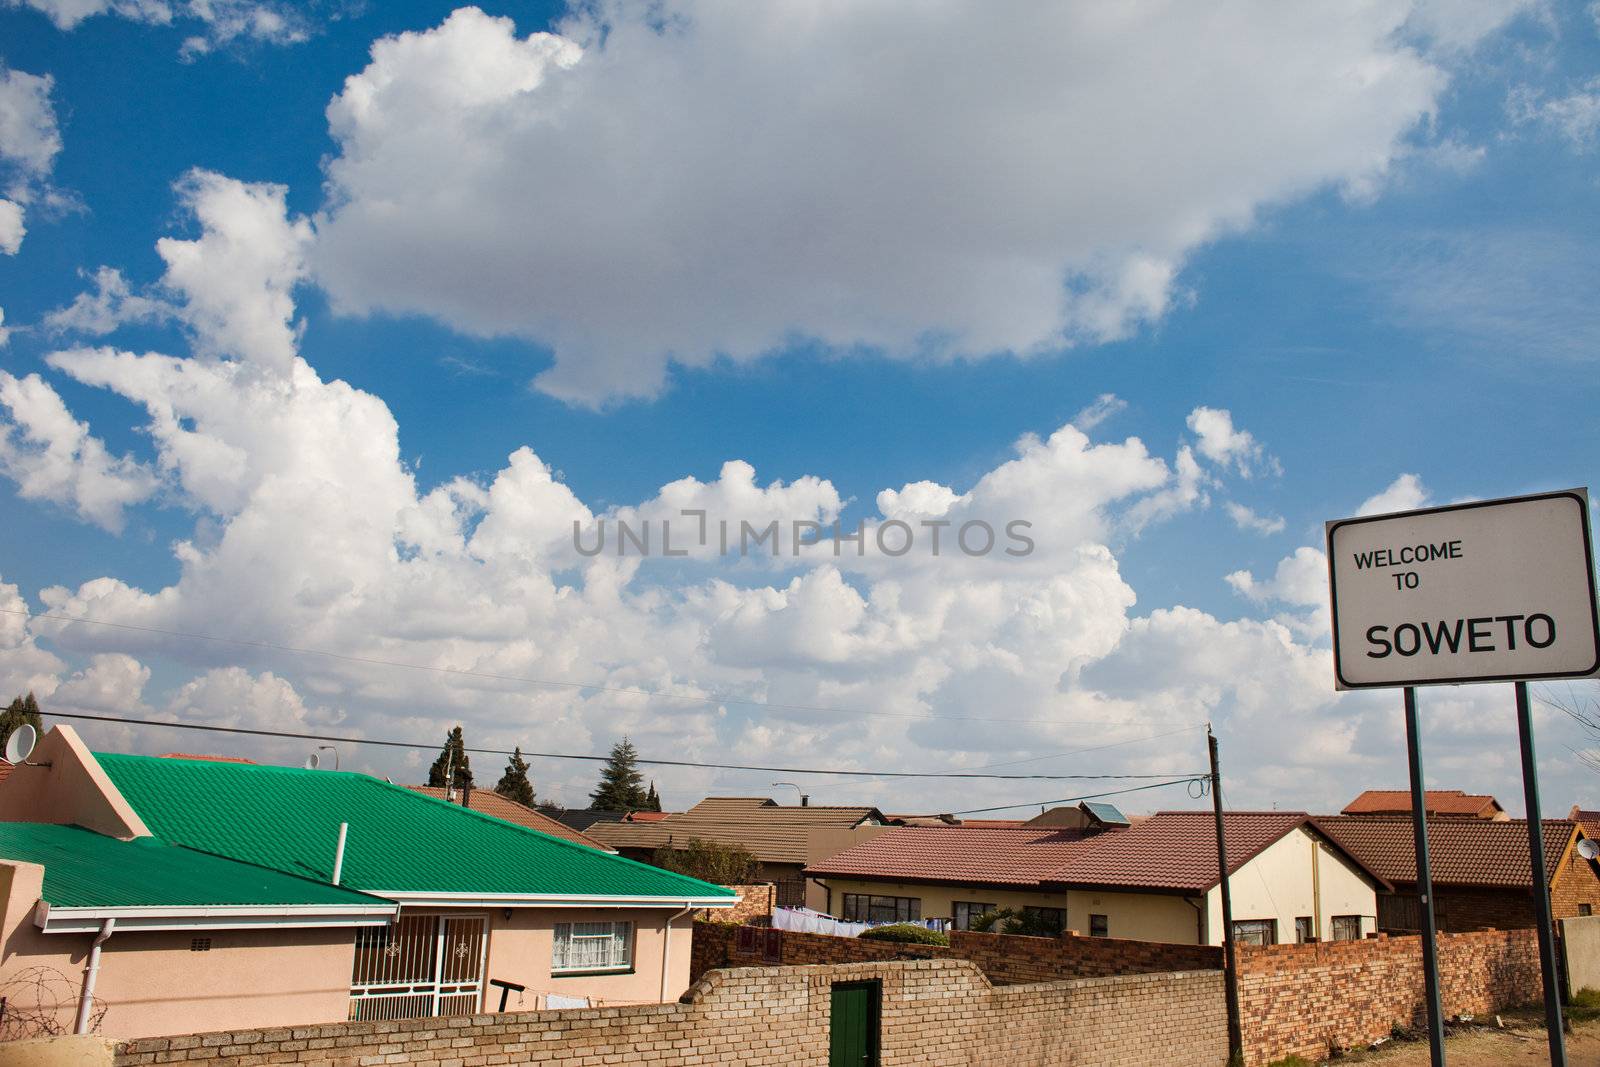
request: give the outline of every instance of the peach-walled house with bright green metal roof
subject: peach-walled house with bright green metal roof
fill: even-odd
[[[66,726],[0,785],[0,824],[8,929],[38,931],[5,941],[0,984],[94,942],[115,1037],[669,1001],[688,915],[738,899],[366,774],[91,753]]]

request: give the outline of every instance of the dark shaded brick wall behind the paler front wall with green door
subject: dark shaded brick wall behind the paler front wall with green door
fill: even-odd
[[[690,981],[725,966],[803,966],[870,960],[971,960],[995,985],[1053,982],[1067,977],[1110,977],[1160,971],[1214,971],[1222,950],[1120,937],[1019,937],[950,933],[950,947],[907,945],[864,937],[806,934],[794,929],[694,923]]]

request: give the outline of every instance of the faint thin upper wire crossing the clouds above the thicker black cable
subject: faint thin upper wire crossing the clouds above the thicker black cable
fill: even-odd
[[[379,659],[376,656],[352,656],[349,653],[331,653],[323,648],[302,648],[298,645],[278,645],[275,641],[253,641],[238,637],[216,637],[211,633],[189,633],[184,630],[166,630],[155,625],[134,625],[133,622],[110,622],[107,619],[86,619],[82,616],[70,614],[54,614],[50,611],[26,611],[21,608],[0,608],[0,614],[16,614],[26,619],[45,619],[54,622],[78,622],[83,625],[104,625],[115,630],[131,630],[136,633],[157,633],[162,637],[178,637],[190,641],[211,641],[218,645],[238,645],[242,648],[261,648],[275,653],[291,653],[296,656],[320,656],[323,659],[334,659],[350,664],[363,664],[370,667],[398,667],[402,670],[427,670],[432,673],[443,673],[464,678],[485,678],[490,681],[515,681],[518,685],[534,685],[549,689],[592,689],[595,693],[611,693],[621,696],[645,696],[659,701],[678,701],[682,704],[734,704],[739,707],[760,707],[773,712],[814,712],[821,715],[867,715],[872,718],[906,718],[920,723],[926,721],[947,721],[947,723],[1029,723],[1040,726],[1131,726],[1136,720],[1106,720],[1106,718],[995,718],[987,715],[912,715],[902,712],[869,712],[864,709],[853,707],[818,707],[813,704],[778,704],[773,701],[746,701],[730,696],[688,696],[677,693],[662,693],[659,689],[630,688],[630,686],[613,686],[613,685],[597,685],[592,681],[560,681],[552,678],[530,678],[525,675],[504,675],[490,670],[469,670],[466,667],[437,667],[432,664],[410,664],[398,659]]]

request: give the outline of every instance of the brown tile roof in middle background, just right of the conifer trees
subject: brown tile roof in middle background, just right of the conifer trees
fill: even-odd
[[[805,864],[813,830],[848,830],[872,822],[883,822],[883,813],[869,806],[790,808],[768,797],[707,797],[659,822],[595,822],[589,833],[618,849],[683,848],[699,838],[739,845],[768,864]]]

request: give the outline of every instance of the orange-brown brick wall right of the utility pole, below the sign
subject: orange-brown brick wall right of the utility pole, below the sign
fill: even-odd
[[[1445,1014],[1491,1014],[1539,1000],[1539,944],[1531,929],[1442,934]],[[1395,1025],[1426,1025],[1419,937],[1373,937],[1238,949],[1245,1062],[1323,1057]]]

